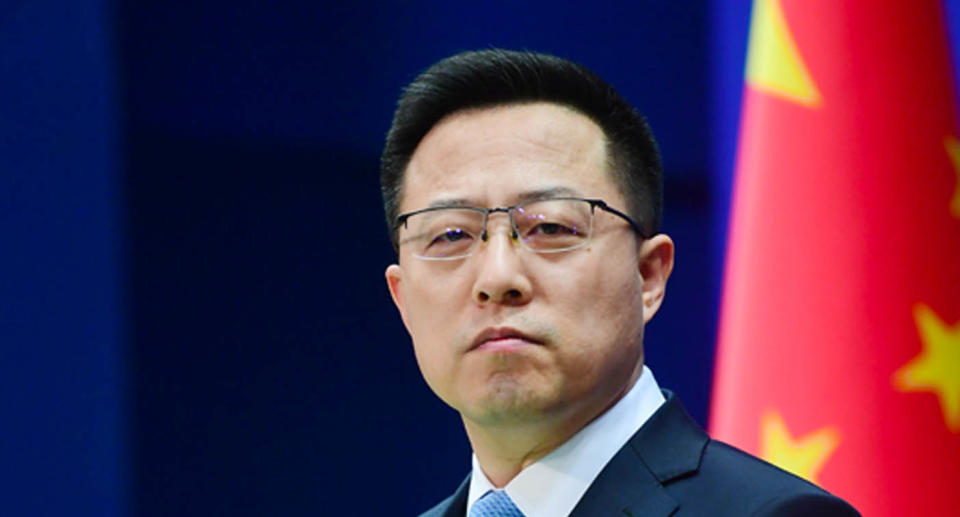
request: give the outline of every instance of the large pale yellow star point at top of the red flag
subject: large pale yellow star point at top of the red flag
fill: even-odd
[[[820,92],[797,50],[780,2],[757,0],[750,19],[747,84],[805,106],[819,106]]]

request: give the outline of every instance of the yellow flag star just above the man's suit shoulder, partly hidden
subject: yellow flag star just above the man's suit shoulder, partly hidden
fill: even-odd
[[[840,443],[840,434],[831,427],[818,429],[794,439],[783,417],[768,411],[760,419],[760,456],[811,483]]]

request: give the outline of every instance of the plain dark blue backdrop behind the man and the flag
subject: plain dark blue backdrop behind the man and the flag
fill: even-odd
[[[749,12],[2,0],[0,513],[415,515],[452,492],[469,444],[385,288],[378,160],[401,88],[491,46],[579,61],[648,117],[678,255],[647,363],[705,424]]]

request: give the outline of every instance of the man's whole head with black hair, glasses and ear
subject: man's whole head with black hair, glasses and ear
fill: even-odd
[[[659,224],[656,149],[646,126],[619,97],[623,105],[617,109],[625,113],[608,118],[629,114],[629,127],[616,129],[612,138],[598,124],[605,112],[591,95],[606,102],[616,94],[576,65],[502,51],[450,60],[424,74],[442,77],[414,82],[430,91],[415,93],[411,86],[401,101],[384,152],[383,189],[388,214],[394,214],[390,220],[426,208],[458,210],[421,212],[397,225],[398,264],[386,271],[390,293],[424,378],[463,415],[468,431],[525,425],[569,436],[615,402],[642,368],[643,325],[660,305],[673,263],[670,239],[648,230]],[[517,98],[498,94],[488,102],[470,101],[497,82],[497,67],[505,77],[500,82],[513,84]],[[476,84],[481,77],[489,82]],[[426,86],[435,81],[446,86]],[[590,95],[584,81],[593,87]],[[539,98],[531,91],[566,96]],[[415,102],[412,96],[423,98]],[[571,107],[570,99],[580,97],[596,117]],[[418,103],[423,106],[414,110]],[[631,144],[625,135],[643,142]],[[611,143],[614,138],[619,143]],[[628,144],[647,154],[642,160],[640,152],[611,157],[612,149]],[[635,171],[642,179],[635,183],[654,183],[656,193],[635,192],[629,186],[634,183],[624,183],[616,169],[624,163],[652,166]],[[391,192],[397,195],[393,201]],[[644,238],[625,216],[557,198],[602,200],[630,212],[652,236]],[[657,201],[639,201],[651,199]],[[486,219],[462,210],[543,200],[550,201],[495,211]],[[576,245],[560,250],[550,244],[558,235]],[[461,252],[449,259],[435,246]]]

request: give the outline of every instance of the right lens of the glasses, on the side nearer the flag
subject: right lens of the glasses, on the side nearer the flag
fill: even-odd
[[[593,209],[576,199],[549,199],[520,205],[514,212],[520,240],[539,252],[578,248],[590,239]]]

